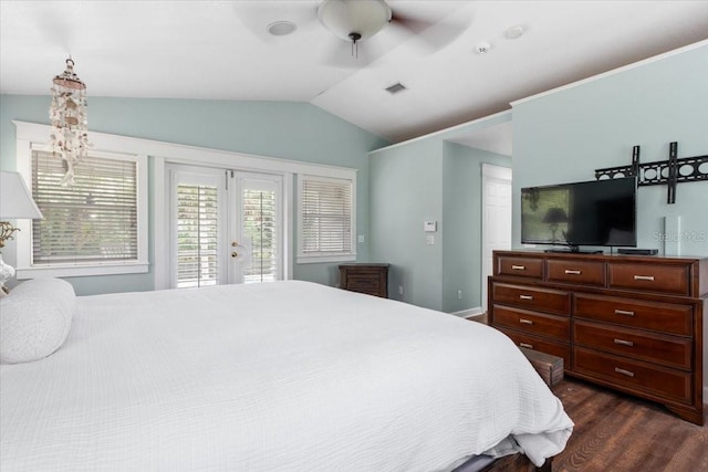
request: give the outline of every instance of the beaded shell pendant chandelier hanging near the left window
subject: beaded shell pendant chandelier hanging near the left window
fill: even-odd
[[[86,119],[86,84],[74,72],[74,61],[54,77],[49,117],[52,122],[51,149],[60,154],[66,174],[62,186],[74,185],[74,166],[86,156],[88,144]]]

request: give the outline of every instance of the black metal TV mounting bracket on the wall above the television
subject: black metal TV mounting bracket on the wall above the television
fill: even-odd
[[[676,202],[676,185],[708,180],[708,155],[677,158],[678,141],[669,145],[667,160],[639,164],[639,146],[632,149],[632,164],[628,166],[595,169],[595,178],[614,179],[637,177],[637,186],[668,185],[667,203]]]

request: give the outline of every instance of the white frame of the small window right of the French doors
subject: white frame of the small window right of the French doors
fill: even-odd
[[[331,255],[306,254],[304,252],[304,232],[303,232],[303,185],[305,180],[319,182],[336,182],[347,183],[351,187],[352,206],[350,209],[350,228],[352,229],[350,238],[350,251],[333,253]],[[350,176],[321,176],[301,174],[298,176],[298,263],[313,264],[323,262],[352,262],[356,261],[356,175]]]

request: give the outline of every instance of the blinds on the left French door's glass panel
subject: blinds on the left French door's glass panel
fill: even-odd
[[[219,279],[218,189],[177,186],[177,287],[216,285]]]

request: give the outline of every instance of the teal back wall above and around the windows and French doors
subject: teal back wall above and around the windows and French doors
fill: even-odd
[[[49,96],[0,95],[0,168],[15,168],[12,120],[49,124]],[[167,143],[358,169],[357,233],[368,234],[368,156],[384,139],[306,103],[88,98],[88,129]],[[150,176],[152,181],[153,176]],[[150,216],[150,262],[153,218]],[[361,260],[368,243],[358,244]],[[12,263],[13,247],[6,249]],[[295,279],[334,285],[336,264],[296,264]],[[70,279],[76,293],[154,289],[152,272]]]

